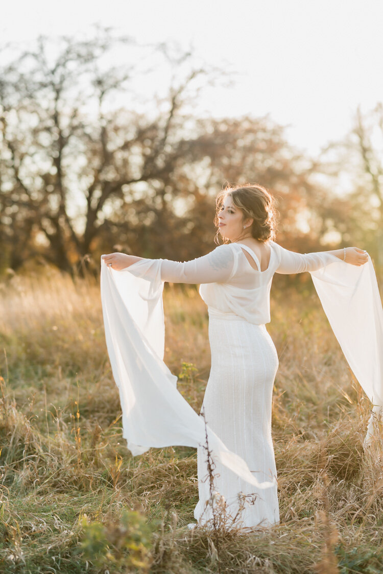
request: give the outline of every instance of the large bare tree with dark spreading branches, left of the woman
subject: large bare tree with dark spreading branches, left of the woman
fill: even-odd
[[[136,63],[111,65],[107,56],[116,44],[137,49],[136,41],[107,29],[91,40],[63,37],[53,46],[40,37],[36,48],[2,70],[0,209],[8,265],[20,265],[21,246],[40,238],[44,257],[71,271],[110,230],[108,212],[144,197],[142,189],[154,192],[158,210],[164,207],[158,182],[191,145],[177,115],[194,80],[214,70],[189,65],[149,119],[110,104],[114,94],[133,100],[134,82],[150,71]],[[173,66],[191,56],[179,54],[175,62],[164,45],[157,53]],[[139,192],[134,184],[145,185]]]

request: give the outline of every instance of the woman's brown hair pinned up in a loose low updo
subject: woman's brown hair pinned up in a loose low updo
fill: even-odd
[[[214,224],[218,227],[218,214],[223,205],[223,201],[230,195],[233,205],[242,211],[243,220],[252,218],[254,221],[250,227],[250,232],[254,239],[262,243],[276,237],[276,210],[274,208],[274,197],[263,185],[249,184],[231,187],[227,185],[216,197],[216,212]],[[218,239],[219,227],[215,239]],[[223,238],[227,243],[229,239]]]

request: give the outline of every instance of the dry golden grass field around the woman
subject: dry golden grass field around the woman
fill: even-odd
[[[310,277],[272,288],[280,367],[273,440],[280,525],[188,530],[196,451],[132,457],[106,351],[99,283],[13,276],[0,307],[0,571],[383,572],[382,439]],[[276,281],[275,281],[276,282]],[[210,369],[195,286],[165,285],[165,362],[199,412]]]

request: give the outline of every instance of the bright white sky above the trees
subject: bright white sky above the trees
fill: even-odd
[[[18,42],[95,23],[229,63],[235,86],[208,91],[200,112],[270,114],[308,153],[342,138],[358,104],[367,111],[383,99],[381,0],[7,0],[0,34]]]

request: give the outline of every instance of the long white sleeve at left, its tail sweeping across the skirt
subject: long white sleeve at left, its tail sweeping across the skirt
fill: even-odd
[[[188,266],[189,262],[165,266],[163,276],[163,261],[143,258],[123,269],[122,273],[107,266],[101,257],[100,292],[105,339],[119,390],[122,436],[127,448],[135,456],[151,447],[208,447],[213,460],[220,461],[254,487],[273,487],[275,476],[272,480],[259,482],[257,469],[250,471],[246,462],[230,451],[205,424],[202,416],[177,390],[177,377],[163,361],[165,278],[171,281],[187,278],[190,282],[212,280],[212,277],[222,279],[229,275],[230,267],[226,265],[226,259],[222,266],[216,263],[217,259],[206,256],[203,267],[194,263]],[[215,266],[211,265],[212,261]]]

